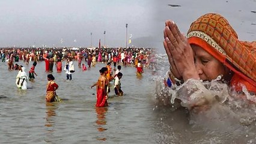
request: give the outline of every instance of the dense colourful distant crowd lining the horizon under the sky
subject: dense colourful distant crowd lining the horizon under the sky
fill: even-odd
[[[127,65],[136,66],[141,61],[145,67],[150,63],[156,63],[154,58],[155,49],[151,48],[80,48],[72,49],[65,47],[53,48],[3,48],[1,49],[0,59],[7,61],[9,69],[13,70],[14,62],[25,61],[44,61],[46,57],[53,62],[58,59],[63,61],[72,58],[74,61],[83,59],[89,64],[95,65],[95,62],[122,62],[124,67]],[[153,55],[152,55],[153,54]],[[79,65],[80,66],[80,65]]]

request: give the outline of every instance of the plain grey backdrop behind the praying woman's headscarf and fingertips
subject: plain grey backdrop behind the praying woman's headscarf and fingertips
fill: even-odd
[[[168,4],[180,5],[170,7]],[[237,32],[240,40],[256,40],[256,0],[161,0],[156,3],[154,34],[156,47],[163,48],[163,28],[165,20],[172,19],[184,34],[194,20],[206,13],[219,13],[224,16]]]

